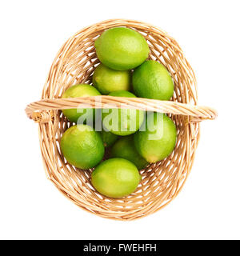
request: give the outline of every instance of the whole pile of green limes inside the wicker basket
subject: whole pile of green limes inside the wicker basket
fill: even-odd
[[[101,63],[94,70],[92,85],[71,86],[62,98],[103,94],[129,100],[170,100],[173,96],[174,81],[169,71],[159,62],[146,60],[150,49],[136,30],[105,30],[95,47]],[[94,168],[92,185],[106,197],[122,198],[134,193],[141,182],[138,170],[168,157],[177,142],[176,126],[166,114],[113,105],[102,110],[80,106],[62,113],[77,123],[62,135],[63,156],[77,168]],[[82,122],[82,118],[92,118],[91,125]]]

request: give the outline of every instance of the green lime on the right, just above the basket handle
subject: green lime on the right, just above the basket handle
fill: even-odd
[[[169,100],[174,94],[174,82],[166,67],[155,61],[143,62],[134,70],[134,94],[142,98]]]

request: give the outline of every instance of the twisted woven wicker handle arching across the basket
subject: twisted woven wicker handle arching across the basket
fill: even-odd
[[[92,96],[80,98],[42,99],[26,106],[26,115],[35,122],[50,122],[53,113],[50,110],[74,108],[123,108],[149,110],[167,114],[189,116],[188,122],[201,122],[217,117],[217,111],[207,106],[196,106],[180,102],[159,101],[148,98],[126,98],[113,96]]]

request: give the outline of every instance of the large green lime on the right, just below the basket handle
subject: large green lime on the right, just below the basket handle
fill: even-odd
[[[158,162],[174,150],[177,130],[174,122],[166,114],[152,113],[146,118],[146,130],[134,134],[134,144],[138,153],[147,162]]]

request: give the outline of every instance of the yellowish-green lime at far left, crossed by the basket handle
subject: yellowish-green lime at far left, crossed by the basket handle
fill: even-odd
[[[68,88],[64,94],[62,94],[62,98],[77,98],[77,97],[85,97],[85,96],[98,96],[101,95],[99,91],[94,88],[94,86],[90,86],[87,84],[78,84],[75,86],[71,86]],[[80,110],[80,109],[79,109]],[[78,118],[80,118],[83,114],[86,118],[93,118],[94,120],[94,109],[83,109],[82,112],[79,112],[78,109],[69,109],[62,110],[62,113],[70,120],[70,122],[78,122]]]

